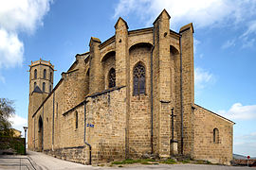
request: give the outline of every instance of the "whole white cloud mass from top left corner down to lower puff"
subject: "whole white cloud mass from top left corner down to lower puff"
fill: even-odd
[[[51,0],[0,0],[0,68],[21,65],[24,44],[20,32],[33,33],[43,25]]]

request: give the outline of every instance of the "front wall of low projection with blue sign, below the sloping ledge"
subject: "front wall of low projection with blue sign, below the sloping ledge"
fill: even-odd
[[[126,88],[120,87],[86,99],[85,140],[92,145],[94,163],[125,157],[125,95]]]

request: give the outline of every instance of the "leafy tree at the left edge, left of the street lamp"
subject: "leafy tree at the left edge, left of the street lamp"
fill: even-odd
[[[13,101],[8,98],[0,98],[0,136],[12,136],[9,117],[14,114]]]

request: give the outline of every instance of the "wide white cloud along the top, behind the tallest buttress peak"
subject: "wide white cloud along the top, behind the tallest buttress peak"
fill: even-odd
[[[170,13],[171,26],[188,23],[196,27],[238,24],[256,14],[254,0],[119,0],[114,17],[136,13],[145,23],[153,23],[163,8]],[[143,11],[143,12],[141,12]]]

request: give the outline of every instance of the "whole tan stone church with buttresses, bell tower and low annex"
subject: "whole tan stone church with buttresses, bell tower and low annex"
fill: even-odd
[[[175,155],[229,164],[234,123],[194,104],[193,26],[92,37],[53,88],[54,66],[29,65],[28,149],[86,164]],[[214,101],[212,101],[214,102]]]

